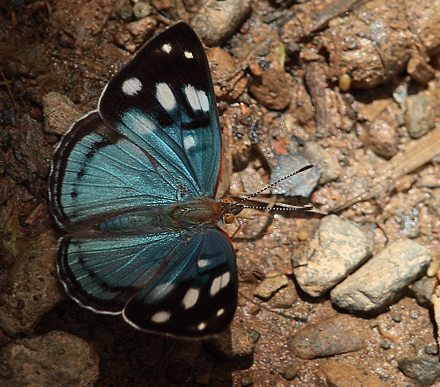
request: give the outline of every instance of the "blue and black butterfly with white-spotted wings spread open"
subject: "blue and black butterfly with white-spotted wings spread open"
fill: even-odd
[[[49,177],[66,292],[133,327],[201,338],[237,305],[235,253],[217,227],[221,133],[203,46],[184,22],[144,45],[98,110],[58,145]]]

